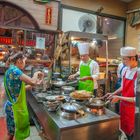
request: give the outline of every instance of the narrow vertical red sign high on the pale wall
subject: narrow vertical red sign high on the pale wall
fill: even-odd
[[[46,7],[46,24],[52,24],[52,7]]]

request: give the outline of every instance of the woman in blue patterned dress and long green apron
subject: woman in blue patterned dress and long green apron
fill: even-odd
[[[6,140],[24,140],[30,134],[29,116],[26,105],[25,83],[29,85],[41,84],[43,73],[36,72],[30,78],[23,73],[26,57],[18,52],[10,57],[10,66],[5,72],[4,86],[7,96],[5,104],[8,134]]]

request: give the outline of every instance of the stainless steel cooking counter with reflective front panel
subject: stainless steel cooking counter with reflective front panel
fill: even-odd
[[[101,116],[86,111],[84,116],[68,120],[59,111],[49,112],[31,91],[27,93],[27,101],[36,126],[48,140],[118,140],[119,115],[108,109]]]

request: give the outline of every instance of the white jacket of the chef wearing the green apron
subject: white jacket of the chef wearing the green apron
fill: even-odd
[[[89,67],[90,67],[91,77],[94,79],[94,89],[97,89],[98,88],[97,80],[99,78],[99,65],[94,60],[89,59],[89,61],[91,61]],[[88,65],[89,61],[87,63],[80,61],[79,71],[77,72],[78,75],[80,75],[80,66],[81,65]]]

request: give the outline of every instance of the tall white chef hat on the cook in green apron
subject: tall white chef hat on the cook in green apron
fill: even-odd
[[[78,50],[80,55],[89,54],[89,43],[79,43]]]

